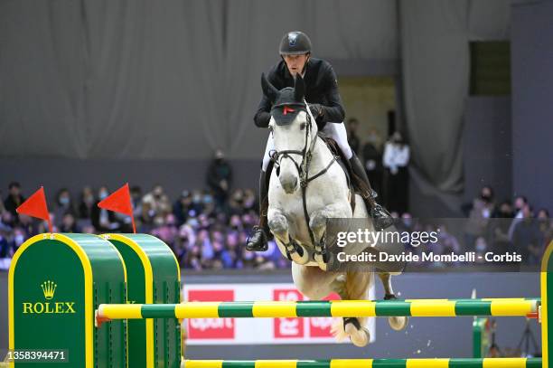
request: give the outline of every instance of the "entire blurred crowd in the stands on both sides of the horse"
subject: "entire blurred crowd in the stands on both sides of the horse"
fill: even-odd
[[[224,193],[223,193],[224,192]],[[174,201],[161,185],[147,193],[131,187],[137,232],[150,233],[168,244],[185,269],[284,269],[289,267],[274,241],[262,253],[245,250],[251,227],[258,222],[258,202],[252,189],[234,189],[214,195],[212,190],[183,190]],[[98,201],[108,196],[108,188],[82,189],[74,199],[68,189],[61,189],[49,206],[55,232],[104,233],[131,232],[131,220],[125,215],[98,208]],[[46,232],[46,222],[18,214],[15,209],[25,197],[21,185],[9,184],[0,202],[0,259],[10,259],[23,241]],[[517,196],[512,203],[496,203],[492,188],[483,187],[481,195],[463,207],[466,218],[464,234],[449,231],[448,224],[424,223],[408,212],[392,212],[398,218],[398,231],[436,231],[438,242],[423,244],[417,250],[435,253],[517,251],[530,264],[539,259],[553,241],[553,222],[546,209],[535,211],[528,200]],[[455,232],[455,235],[454,235]],[[431,247],[431,248],[429,248]],[[4,268],[9,265],[5,263]],[[440,264],[435,264],[440,267]]]

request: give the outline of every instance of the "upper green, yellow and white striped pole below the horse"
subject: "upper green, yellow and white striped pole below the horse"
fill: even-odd
[[[185,302],[101,304],[96,316],[99,326],[108,320],[142,318],[531,316],[538,307],[539,298]]]

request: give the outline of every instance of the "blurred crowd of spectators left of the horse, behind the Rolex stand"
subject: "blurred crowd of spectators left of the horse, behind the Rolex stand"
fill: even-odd
[[[9,193],[0,203],[0,259],[10,259],[23,241],[46,232],[45,222],[15,209],[25,197],[21,185],[9,185]],[[108,196],[108,188],[82,189],[73,198],[61,189],[54,203],[49,203],[55,232],[132,232],[131,219],[116,212],[98,208]],[[242,246],[250,228],[258,222],[258,203],[251,189],[234,189],[217,197],[211,190],[183,190],[171,201],[162,185],[143,193],[131,187],[136,231],[150,233],[168,244],[181,267],[186,269],[275,269],[289,267],[276,244],[269,250],[250,252]],[[217,200],[216,198],[219,198]]]

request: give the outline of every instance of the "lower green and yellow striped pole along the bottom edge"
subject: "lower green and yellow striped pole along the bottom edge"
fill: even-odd
[[[184,368],[541,368],[539,358],[333,359],[326,361],[185,360]]]

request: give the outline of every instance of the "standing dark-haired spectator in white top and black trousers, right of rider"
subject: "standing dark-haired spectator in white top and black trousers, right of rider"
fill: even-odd
[[[382,159],[386,168],[384,200],[389,211],[402,213],[408,210],[409,156],[409,146],[403,140],[401,133],[395,132],[384,146]]]

